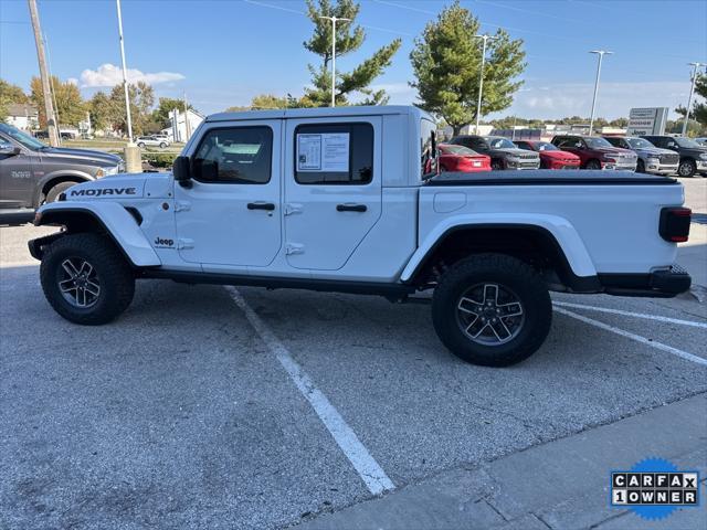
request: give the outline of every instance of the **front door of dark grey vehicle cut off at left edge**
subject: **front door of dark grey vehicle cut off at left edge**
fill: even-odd
[[[34,176],[32,157],[20,147],[20,152],[7,153],[18,147],[14,142],[0,136],[0,208],[29,208],[32,205]]]

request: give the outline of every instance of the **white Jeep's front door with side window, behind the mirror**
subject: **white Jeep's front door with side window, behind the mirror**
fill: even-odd
[[[210,124],[191,188],[175,183],[176,242],[187,262],[267,266],[282,244],[281,120]]]

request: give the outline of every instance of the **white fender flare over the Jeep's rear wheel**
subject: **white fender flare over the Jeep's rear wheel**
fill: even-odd
[[[595,278],[597,269],[574,226],[564,218],[548,214],[466,214],[455,215],[437,224],[424,237],[400,276],[410,282],[425,258],[450,233],[464,229],[524,229],[548,233],[564,255],[570,272],[579,278]]]

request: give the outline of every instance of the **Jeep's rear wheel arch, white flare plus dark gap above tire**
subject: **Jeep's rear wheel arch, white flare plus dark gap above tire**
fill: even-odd
[[[574,292],[598,292],[601,285],[593,263],[574,229],[529,222],[460,223],[431,233],[405,266],[401,280],[424,283],[432,267],[478,253],[518,257],[534,266],[551,269]],[[450,265],[445,263],[445,265]]]

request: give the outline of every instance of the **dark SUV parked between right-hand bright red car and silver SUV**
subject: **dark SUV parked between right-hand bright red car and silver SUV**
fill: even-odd
[[[612,146],[598,136],[558,135],[552,145],[577,155],[582,169],[625,169],[635,171],[639,157],[629,149]]]

